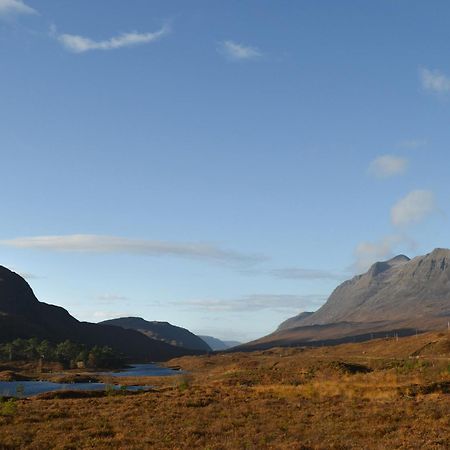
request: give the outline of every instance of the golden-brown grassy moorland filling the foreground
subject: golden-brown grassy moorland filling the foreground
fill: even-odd
[[[447,334],[169,365],[189,375],[125,380],[148,393],[3,402],[0,448],[450,448]]]

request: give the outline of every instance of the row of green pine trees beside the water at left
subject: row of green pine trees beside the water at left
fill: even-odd
[[[65,367],[117,368],[124,365],[124,357],[111,347],[87,347],[66,340],[52,343],[37,338],[15,339],[0,344],[1,361],[59,362]]]

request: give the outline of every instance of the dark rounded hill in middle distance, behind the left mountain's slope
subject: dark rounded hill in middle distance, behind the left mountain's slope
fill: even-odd
[[[122,317],[119,319],[105,320],[100,322],[100,324],[136,330],[152,339],[167,342],[177,347],[185,347],[204,352],[212,351],[211,347],[204,340],[189,330],[171,325],[168,322],[149,322],[140,317]]]

